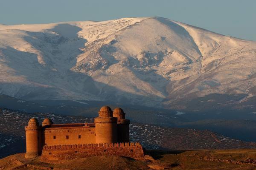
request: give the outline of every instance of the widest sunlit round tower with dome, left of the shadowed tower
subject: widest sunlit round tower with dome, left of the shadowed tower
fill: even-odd
[[[99,117],[94,119],[96,143],[117,142],[117,118],[108,106],[103,106],[99,111]]]

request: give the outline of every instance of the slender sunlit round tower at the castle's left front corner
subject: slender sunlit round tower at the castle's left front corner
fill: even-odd
[[[32,118],[29,120],[26,130],[26,154],[25,158],[35,158],[42,152],[41,147],[41,126],[38,120]]]

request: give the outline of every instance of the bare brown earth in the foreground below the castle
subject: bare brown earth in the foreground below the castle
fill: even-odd
[[[24,153],[0,159],[0,170],[255,170],[256,150],[148,150],[144,161],[94,156],[63,162],[25,159]]]

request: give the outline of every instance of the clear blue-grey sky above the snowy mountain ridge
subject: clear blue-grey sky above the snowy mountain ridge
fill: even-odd
[[[256,0],[0,0],[0,24],[165,17],[256,41]]]

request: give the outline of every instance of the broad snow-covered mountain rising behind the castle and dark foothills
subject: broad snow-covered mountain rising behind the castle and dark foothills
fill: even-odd
[[[0,25],[0,93],[180,110],[254,108],[256,42],[162,17]]]

